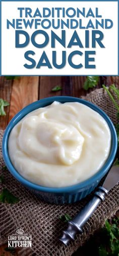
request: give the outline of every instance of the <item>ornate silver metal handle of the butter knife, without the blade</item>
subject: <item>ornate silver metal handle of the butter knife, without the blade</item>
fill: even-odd
[[[70,240],[74,240],[77,233],[83,232],[83,226],[87,220],[91,217],[97,206],[101,201],[104,201],[105,196],[108,194],[108,190],[104,187],[98,187],[98,190],[94,193],[94,197],[90,202],[74,217],[68,221],[67,230],[63,231],[63,235],[59,238],[61,242],[67,245]]]

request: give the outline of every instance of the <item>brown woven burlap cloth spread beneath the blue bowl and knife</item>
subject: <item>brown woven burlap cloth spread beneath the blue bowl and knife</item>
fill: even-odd
[[[116,123],[116,110],[103,89],[91,92],[85,99],[98,105],[109,115],[113,123]],[[2,146],[2,137],[3,132],[1,131],[0,146]],[[2,151],[0,158],[0,169],[2,169],[4,166]],[[65,227],[58,217],[65,213],[72,217],[75,216],[90,200],[91,195],[75,204],[51,205],[39,201],[8,171],[5,171],[4,175],[6,183],[1,186],[1,190],[3,187],[7,187],[20,199],[20,202],[14,205],[1,203],[0,244],[6,243],[8,235],[12,235],[18,228],[22,228],[25,234],[32,235],[32,250],[21,249],[19,254],[22,256],[70,256],[91,234],[103,226],[105,219],[110,218],[119,209],[119,185],[116,185],[87,222],[83,234],[77,235],[75,242],[65,246],[57,239]]]

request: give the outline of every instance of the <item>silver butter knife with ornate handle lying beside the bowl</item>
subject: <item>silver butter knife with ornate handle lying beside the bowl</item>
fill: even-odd
[[[59,238],[61,242],[68,245],[71,240],[75,239],[77,233],[83,232],[82,228],[87,220],[91,217],[100,202],[104,201],[109,190],[113,188],[118,181],[119,167],[112,166],[103,185],[98,187],[98,190],[94,193],[94,197],[90,200],[90,202],[76,215],[76,217],[68,221],[67,230],[63,231],[63,235]]]

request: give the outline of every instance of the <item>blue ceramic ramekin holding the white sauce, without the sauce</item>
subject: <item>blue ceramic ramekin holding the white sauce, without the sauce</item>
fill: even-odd
[[[14,168],[14,166],[11,163],[9,153],[8,153],[8,139],[11,130],[13,127],[29,112],[40,108],[45,107],[47,105],[50,105],[54,101],[59,101],[61,103],[65,102],[79,102],[82,103],[91,109],[98,112],[108,123],[108,126],[110,128],[111,132],[111,149],[108,156],[108,159],[106,163],[103,165],[103,167],[91,178],[73,185],[73,186],[67,186],[67,187],[61,187],[61,188],[55,188],[55,187],[44,187],[37,184],[34,184],[28,180],[26,180],[24,177],[22,177],[17,170]],[[116,132],[114,129],[114,126],[109,119],[109,117],[96,105],[87,102],[85,100],[74,98],[74,97],[66,97],[66,96],[59,96],[59,97],[50,97],[45,98],[42,100],[39,100],[37,102],[34,102],[24,109],[22,109],[18,114],[14,116],[14,118],[10,121],[10,123],[7,126],[7,129],[4,134],[3,138],[3,156],[4,161],[6,163],[6,166],[8,170],[11,172],[11,174],[19,181],[21,182],[25,187],[29,188],[33,191],[40,199],[47,201],[49,203],[55,203],[55,204],[65,204],[65,203],[74,203],[76,201],[81,200],[82,198],[86,197],[88,194],[91,193],[91,191],[98,185],[101,178],[108,172],[109,168],[111,167],[115,154],[117,149],[117,137]]]

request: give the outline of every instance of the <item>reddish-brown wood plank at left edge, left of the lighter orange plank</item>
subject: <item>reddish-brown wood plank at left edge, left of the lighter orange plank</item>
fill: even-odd
[[[11,100],[11,92],[12,92],[12,80],[7,80],[5,77],[0,77],[0,98],[8,101],[10,103]],[[9,110],[10,107],[5,108],[6,116],[0,117],[0,129],[6,129],[9,119]]]

